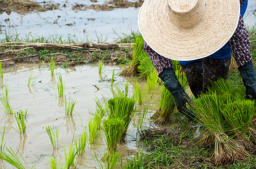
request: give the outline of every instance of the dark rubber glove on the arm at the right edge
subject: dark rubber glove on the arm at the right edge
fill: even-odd
[[[240,71],[242,82],[244,82],[246,88],[247,99],[256,99],[256,74],[253,62],[249,61],[245,65],[240,66],[238,70]]]

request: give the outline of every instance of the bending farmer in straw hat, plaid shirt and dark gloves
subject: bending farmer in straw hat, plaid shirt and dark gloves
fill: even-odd
[[[164,86],[179,112],[194,118],[178,81],[173,60],[179,60],[193,95],[207,91],[211,81],[228,78],[231,55],[238,65],[248,99],[256,99],[256,75],[248,31],[242,16],[248,0],[146,0],[138,24]]]

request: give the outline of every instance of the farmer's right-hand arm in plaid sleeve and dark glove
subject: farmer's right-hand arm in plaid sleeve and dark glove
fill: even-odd
[[[231,48],[242,81],[246,87],[246,97],[248,99],[256,99],[256,74],[251,61],[253,58],[250,52],[249,34],[241,15],[237,29],[229,40],[228,45]]]

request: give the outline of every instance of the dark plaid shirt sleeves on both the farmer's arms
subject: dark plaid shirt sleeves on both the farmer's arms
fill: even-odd
[[[244,2],[245,0],[240,0],[240,6],[242,6]],[[248,30],[245,28],[244,20],[242,19],[241,15],[236,31],[231,39],[229,39],[228,45],[231,48],[234,60],[236,60],[238,66],[242,66],[253,59],[250,52]],[[173,67],[172,60],[157,54],[157,52],[153,51],[146,42],[144,42],[144,51],[148,54],[148,56],[150,56],[150,59],[159,74],[162,73],[164,69]]]

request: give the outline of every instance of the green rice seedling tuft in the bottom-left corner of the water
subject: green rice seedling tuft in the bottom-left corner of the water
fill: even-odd
[[[17,150],[17,152],[14,152],[14,150],[12,150],[11,148],[7,149],[7,152],[2,152],[0,153],[0,158],[2,158],[3,160],[5,160],[6,162],[8,162],[9,164],[11,164],[12,166],[18,168],[18,169],[25,169],[28,167],[24,167],[22,162],[20,161],[18,155],[19,154],[20,157],[22,157],[22,154],[20,154],[19,150]],[[23,161],[25,162],[24,158],[22,157]],[[27,164],[27,162],[25,162]]]

